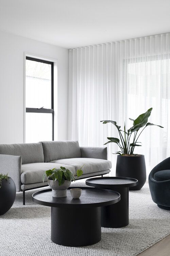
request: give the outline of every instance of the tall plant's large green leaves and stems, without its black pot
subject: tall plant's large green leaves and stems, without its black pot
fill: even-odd
[[[107,123],[113,124],[117,128],[117,130],[119,132],[119,137],[120,137],[120,140],[118,138],[107,137],[107,139],[109,141],[106,142],[104,145],[114,142],[120,148],[120,151],[116,152],[115,154],[129,155],[129,156],[134,155],[133,154],[134,148],[136,146],[141,146],[141,145],[139,145],[139,143],[141,143],[141,142],[138,142],[138,138],[139,138],[140,134],[147,126],[154,125],[154,124],[148,123],[148,118],[151,115],[151,111],[152,111],[152,108],[148,109],[147,112],[139,115],[136,119],[129,118],[130,120],[133,121],[133,126],[130,129],[128,129],[127,131],[126,131],[126,127],[125,127],[125,122],[124,122],[123,130],[121,130],[120,129],[121,127],[118,126],[115,121],[112,121],[112,120],[100,121],[100,122],[103,122],[103,124],[107,124]],[[156,126],[158,126],[160,128],[164,128],[160,125],[156,125]],[[143,128],[143,129],[141,131],[139,131],[141,128]]]

